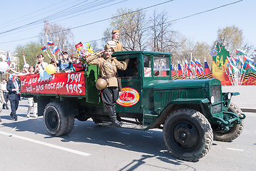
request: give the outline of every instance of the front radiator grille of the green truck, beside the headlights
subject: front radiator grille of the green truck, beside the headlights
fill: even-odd
[[[220,85],[213,85],[210,86],[210,95],[214,96],[215,103],[221,101],[221,86]],[[212,105],[212,114],[222,112],[222,103],[217,105]]]

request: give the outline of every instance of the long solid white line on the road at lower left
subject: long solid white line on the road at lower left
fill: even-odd
[[[58,146],[58,145],[53,145],[53,144],[50,144],[48,142],[42,142],[42,141],[39,141],[39,140],[33,140],[31,138],[25,138],[25,137],[22,137],[22,136],[19,136],[19,135],[11,134],[11,133],[5,133],[5,132],[0,131],[0,134],[7,135],[7,136],[13,137],[13,138],[19,138],[21,140],[26,140],[26,141],[29,141],[29,142],[34,142],[34,143],[39,144],[39,145],[45,145],[47,147],[53,147],[53,148],[56,148],[58,150],[63,150],[63,151],[66,151],[66,152],[72,152],[72,153],[75,153],[77,155],[83,155],[83,156],[91,155],[91,154],[86,153],[86,152],[81,152],[81,151],[73,150],[73,149],[70,149],[70,148],[67,148],[67,147],[61,147],[61,146]]]

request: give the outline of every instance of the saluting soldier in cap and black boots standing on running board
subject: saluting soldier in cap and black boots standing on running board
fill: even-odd
[[[88,56],[86,62],[98,65],[101,78],[106,79],[108,85],[101,91],[101,98],[106,108],[108,108],[112,124],[114,126],[121,126],[122,123],[116,118],[116,100],[118,99],[118,79],[116,73],[118,69],[126,70],[129,58],[126,61],[118,61],[116,58],[111,58],[113,48],[108,44],[106,44],[104,50],[94,56]],[[104,58],[98,58],[103,52],[105,53]]]

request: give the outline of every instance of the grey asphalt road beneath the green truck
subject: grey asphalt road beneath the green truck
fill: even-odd
[[[198,162],[177,160],[167,151],[161,130],[102,127],[76,120],[66,136],[51,137],[43,118],[26,118],[27,101],[11,120],[0,123],[0,170],[255,170],[256,113],[245,113],[245,129],[233,142],[213,142]]]

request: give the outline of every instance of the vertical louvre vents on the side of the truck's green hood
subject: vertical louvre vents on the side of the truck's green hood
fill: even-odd
[[[187,98],[187,93],[185,90],[166,90],[160,92],[160,99],[161,99],[161,105],[162,107],[165,107],[168,105],[172,100],[178,99],[178,98]]]

